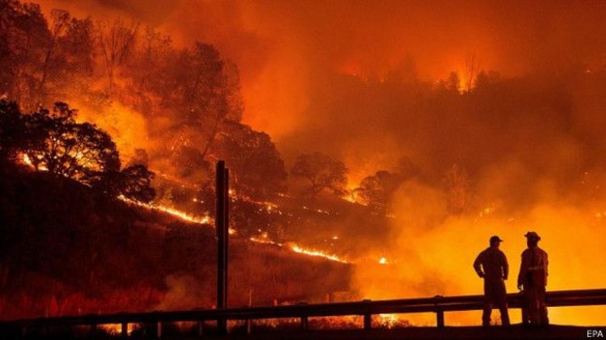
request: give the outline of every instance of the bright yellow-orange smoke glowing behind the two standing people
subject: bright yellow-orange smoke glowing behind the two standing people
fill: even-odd
[[[471,264],[488,238],[505,240],[501,249],[510,265],[508,292],[516,287],[524,234],[542,237],[539,246],[549,255],[548,290],[598,289],[604,287],[606,201],[576,206],[565,200],[536,204],[525,214],[482,209],[464,217],[449,216],[441,193],[417,183],[402,186],[394,201],[395,242],[388,252],[397,261],[376,263],[371,259],[356,267],[356,287],[371,299],[482,293],[482,280]],[[604,321],[606,307],[551,308],[554,324],[596,325]],[[498,313],[493,316],[498,318]],[[404,316],[406,317],[406,316]],[[512,314],[513,321],[519,313]],[[435,322],[433,315],[413,316],[418,324]],[[449,313],[450,324],[481,324],[478,313]]]

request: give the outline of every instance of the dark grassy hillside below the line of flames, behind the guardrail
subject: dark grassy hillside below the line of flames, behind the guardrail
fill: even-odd
[[[211,307],[212,226],[108,200],[44,172],[0,174],[2,319]],[[229,303],[313,301],[348,289],[350,266],[230,240]]]

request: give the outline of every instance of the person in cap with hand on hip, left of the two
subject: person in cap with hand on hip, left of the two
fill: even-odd
[[[499,249],[503,240],[498,236],[490,238],[490,247],[482,250],[473,262],[473,269],[478,276],[484,278],[484,312],[482,313],[482,325],[490,325],[490,314],[497,307],[501,312],[501,324],[509,325],[509,314],[507,312],[507,292],[505,291],[505,280],[509,274],[507,257]]]

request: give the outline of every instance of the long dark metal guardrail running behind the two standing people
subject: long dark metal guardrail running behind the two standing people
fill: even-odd
[[[521,293],[510,293],[507,301],[510,308],[520,308]],[[547,306],[597,306],[606,305],[606,289],[558,290],[547,292]],[[338,302],[328,304],[298,304],[291,306],[243,307],[230,309],[185,310],[172,312],[116,313],[109,315],[79,315],[53,318],[19,319],[2,321],[0,327],[21,329],[47,329],[49,327],[69,327],[121,324],[122,335],[127,334],[130,323],[158,324],[158,337],[161,336],[162,323],[176,321],[221,321],[299,318],[301,329],[308,328],[308,318],[313,316],[364,316],[364,329],[371,328],[371,316],[384,313],[436,313],[436,325],[444,327],[444,313],[464,310],[482,310],[483,295],[435,296],[433,298],[393,299],[361,302]],[[250,327],[248,327],[250,329]]]

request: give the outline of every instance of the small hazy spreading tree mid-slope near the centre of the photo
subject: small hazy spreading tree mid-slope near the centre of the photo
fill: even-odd
[[[331,189],[338,195],[343,194],[347,185],[347,172],[343,162],[319,152],[299,155],[290,171],[293,176],[309,181],[307,193],[312,198],[324,189]]]

